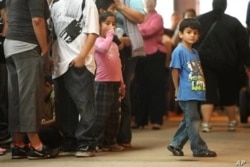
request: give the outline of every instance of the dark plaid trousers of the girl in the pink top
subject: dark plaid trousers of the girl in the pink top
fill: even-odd
[[[98,144],[116,144],[120,123],[120,82],[95,82],[96,116],[95,136],[100,136]]]

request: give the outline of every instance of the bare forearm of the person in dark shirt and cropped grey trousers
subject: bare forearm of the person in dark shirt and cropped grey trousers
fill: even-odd
[[[34,32],[41,48],[41,55],[48,51],[47,26],[44,18],[32,18]]]

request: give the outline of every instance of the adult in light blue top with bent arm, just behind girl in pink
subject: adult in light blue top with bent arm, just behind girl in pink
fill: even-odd
[[[142,0],[114,0],[118,11],[118,17],[123,22],[121,27],[129,37],[128,43],[131,44],[131,58],[125,64],[124,82],[126,85],[126,94],[122,99],[121,105],[121,123],[117,136],[118,144],[124,147],[131,147],[131,83],[135,78],[136,64],[140,58],[146,55],[142,36],[138,30],[137,24],[144,21],[144,6]],[[119,19],[119,18],[118,18]]]

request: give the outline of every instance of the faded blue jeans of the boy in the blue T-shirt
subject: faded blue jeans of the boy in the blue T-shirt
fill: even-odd
[[[170,143],[171,146],[182,149],[189,139],[194,154],[202,153],[208,149],[207,144],[199,134],[200,115],[198,113],[198,103],[198,101],[179,101],[184,117]]]

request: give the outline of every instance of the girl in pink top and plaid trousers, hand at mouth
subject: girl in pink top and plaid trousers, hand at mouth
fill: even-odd
[[[95,42],[96,62],[95,136],[103,151],[123,151],[116,141],[120,123],[119,97],[125,95],[119,48],[113,42],[116,17],[112,12],[103,12],[99,17],[100,36]]]

